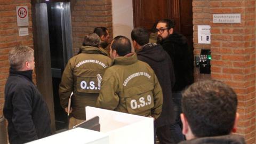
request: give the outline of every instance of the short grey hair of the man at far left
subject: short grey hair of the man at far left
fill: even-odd
[[[28,46],[17,46],[9,52],[9,63],[14,70],[21,70],[26,61],[32,61],[34,50]]]

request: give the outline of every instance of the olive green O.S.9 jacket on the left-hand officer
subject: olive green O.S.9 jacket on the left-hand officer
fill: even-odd
[[[73,92],[71,115],[76,119],[85,119],[85,106],[95,107],[99,95],[100,84],[96,75],[103,76],[112,60],[97,47],[82,46],[80,51],[68,61],[63,71],[59,97],[61,106],[66,108]]]

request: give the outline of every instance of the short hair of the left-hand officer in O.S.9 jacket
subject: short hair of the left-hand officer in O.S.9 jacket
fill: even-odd
[[[83,46],[99,47],[99,44],[100,44],[100,37],[95,33],[87,34],[84,37]]]

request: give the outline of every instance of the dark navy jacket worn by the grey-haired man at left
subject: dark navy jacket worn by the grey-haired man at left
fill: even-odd
[[[25,143],[51,134],[49,110],[32,81],[32,71],[10,68],[3,110],[10,143]]]

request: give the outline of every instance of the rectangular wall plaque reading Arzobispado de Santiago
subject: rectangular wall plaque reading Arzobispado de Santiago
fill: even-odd
[[[213,23],[241,23],[241,13],[213,14]]]

